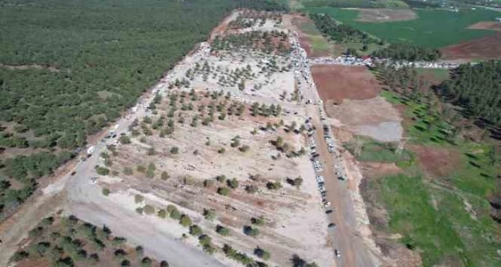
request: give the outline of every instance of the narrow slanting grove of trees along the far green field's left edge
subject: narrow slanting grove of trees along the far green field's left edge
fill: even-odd
[[[310,14],[310,18],[315,22],[315,26],[322,32],[324,37],[328,37],[332,41],[339,43],[379,43],[377,39],[370,37],[366,32],[346,24],[337,23],[331,16],[326,14]]]

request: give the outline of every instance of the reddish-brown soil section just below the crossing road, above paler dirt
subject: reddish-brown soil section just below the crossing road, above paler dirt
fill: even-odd
[[[379,95],[380,83],[364,66],[317,65],[311,68],[324,102],[371,99]]]

